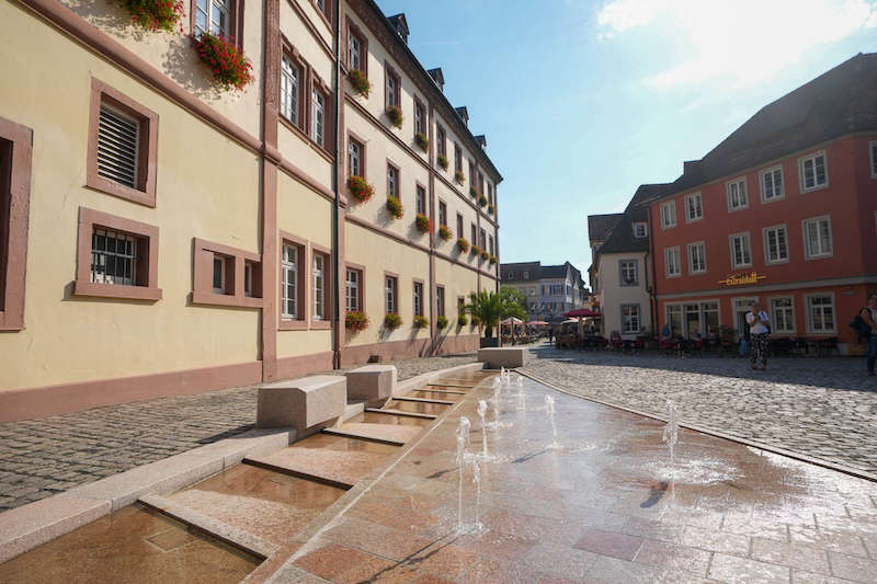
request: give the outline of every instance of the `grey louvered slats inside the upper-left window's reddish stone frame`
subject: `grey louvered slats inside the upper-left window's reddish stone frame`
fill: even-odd
[[[98,174],[137,188],[140,123],[101,106],[98,129]]]

